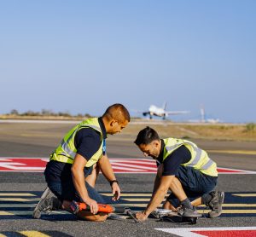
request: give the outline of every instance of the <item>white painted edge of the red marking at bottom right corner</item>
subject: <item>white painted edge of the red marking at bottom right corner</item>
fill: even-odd
[[[177,234],[182,237],[201,237],[205,235],[196,234],[192,231],[214,231],[214,230],[256,230],[256,227],[212,227],[212,228],[154,228],[170,234]]]

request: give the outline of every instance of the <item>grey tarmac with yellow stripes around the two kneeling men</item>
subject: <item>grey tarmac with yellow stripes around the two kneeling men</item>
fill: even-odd
[[[71,126],[73,124],[1,123],[0,159],[47,159]],[[135,136],[109,137],[108,157],[143,159],[143,154],[133,144]],[[219,167],[256,171],[255,142],[191,141],[206,149]],[[154,173],[118,173],[116,176],[123,193],[121,202],[133,210],[143,210],[153,188]],[[218,189],[226,194],[224,213],[216,219],[201,217],[195,225],[154,218],[145,223],[133,223],[131,219],[90,223],[65,211],[52,212],[34,220],[32,209],[45,187],[42,171],[0,171],[0,236],[199,236],[200,233],[216,236],[212,233],[223,233],[224,230],[226,234],[233,234],[230,236],[256,234],[256,175],[253,172],[220,173]],[[102,175],[96,189],[102,194],[110,194],[109,184]],[[204,207],[200,211],[207,213]]]

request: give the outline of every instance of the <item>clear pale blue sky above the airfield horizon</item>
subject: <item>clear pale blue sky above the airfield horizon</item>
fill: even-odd
[[[166,101],[191,112],[174,120],[204,104],[256,122],[255,12],[254,0],[0,0],[0,113]]]

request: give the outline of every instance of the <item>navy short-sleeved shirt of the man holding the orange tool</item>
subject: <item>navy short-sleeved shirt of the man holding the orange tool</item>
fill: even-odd
[[[103,139],[107,138],[107,132],[102,122],[102,118],[98,118]],[[101,134],[92,128],[83,128],[77,132],[74,137],[74,145],[77,153],[84,157],[87,161],[97,152],[101,146]],[[72,164],[50,160],[44,171],[47,182],[65,182],[72,178]]]

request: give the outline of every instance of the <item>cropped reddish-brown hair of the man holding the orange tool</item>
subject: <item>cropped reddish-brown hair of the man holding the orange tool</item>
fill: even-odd
[[[122,104],[113,104],[112,106],[108,107],[102,117],[105,117],[108,120],[116,119],[119,123],[123,123],[125,120],[130,122],[131,119],[130,113]]]

